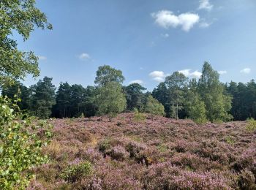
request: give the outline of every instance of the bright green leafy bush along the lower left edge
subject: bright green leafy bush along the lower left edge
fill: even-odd
[[[25,189],[33,177],[29,169],[48,161],[42,147],[48,145],[52,126],[47,121],[24,118],[18,106],[0,96],[0,188]]]

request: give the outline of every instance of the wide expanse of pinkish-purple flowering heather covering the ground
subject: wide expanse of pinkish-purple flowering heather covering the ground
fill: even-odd
[[[29,189],[256,189],[256,134],[246,122],[199,126],[160,116],[138,122],[124,113],[112,122],[53,125],[44,150],[50,162],[33,169]]]

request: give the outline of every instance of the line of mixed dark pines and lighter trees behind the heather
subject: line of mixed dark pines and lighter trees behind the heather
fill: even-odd
[[[169,118],[191,118],[197,123],[221,122],[256,118],[256,83],[221,83],[211,64],[203,64],[199,80],[189,80],[173,72],[152,92],[138,83],[122,86],[121,70],[99,66],[95,86],[52,84],[44,77],[29,88],[16,81],[2,86],[2,95],[10,98],[19,94],[21,110],[39,118],[78,118],[133,111],[165,115]]]

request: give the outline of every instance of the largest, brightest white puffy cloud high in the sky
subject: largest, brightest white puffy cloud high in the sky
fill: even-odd
[[[196,23],[199,22],[199,15],[191,12],[185,12],[180,15],[174,15],[169,10],[161,10],[151,13],[155,22],[163,28],[176,28],[181,26],[182,30],[189,31]]]

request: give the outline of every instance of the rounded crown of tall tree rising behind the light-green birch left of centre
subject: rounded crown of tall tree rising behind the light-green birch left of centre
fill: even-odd
[[[121,70],[114,69],[109,65],[99,66],[94,83],[105,86],[109,82],[123,83],[124,76]]]

